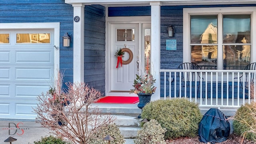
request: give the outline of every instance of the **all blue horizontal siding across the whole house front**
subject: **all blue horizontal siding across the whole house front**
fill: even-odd
[[[256,6],[203,5],[161,6],[161,69],[176,69],[183,60],[183,8]],[[150,16],[150,6],[109,7],[108,16]],[[85,6],[84,27],[84,81],[105,93],[105,17],[104,6]],[[60,22],[60,70],[64,82],[73,81],[73,41],[68,48],[62,47],[65,32],[73,38],[73,7],[64,0],[1,0],[0,23],[12,22]],[[167,36],[167,27],[174,26],[174,37]],[[177,50],[166,50],[166,39],[177,40]],[[162,76],[161,76],[162,78]],[[162,81],[161,81],[162,82]],[[163,85],[163,84],[161,84]],[[161,87],[161,93],[162,91]]]

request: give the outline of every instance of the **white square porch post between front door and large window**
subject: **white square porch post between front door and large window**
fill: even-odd
[[[150,2],[151,5],[151,62],[152,74],[156,79],[154,84],[156,92],[151,96],[151,100],[160,99],[160,6],[161,2]]]

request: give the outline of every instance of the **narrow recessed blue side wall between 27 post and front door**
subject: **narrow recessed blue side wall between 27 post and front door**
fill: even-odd
[[[105,94],[105,17],[104,6],[85,6],[84,82]]]

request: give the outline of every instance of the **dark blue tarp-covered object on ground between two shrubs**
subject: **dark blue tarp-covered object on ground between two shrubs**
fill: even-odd
[[[226,116],[217,108],[208,110],[199,123],[200,142],[223,142],[230,133],[230,124]]]

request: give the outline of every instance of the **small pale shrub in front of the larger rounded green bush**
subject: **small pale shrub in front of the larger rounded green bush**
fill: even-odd
[[[161,127],[156,120],[146,122],[134,140],[134,144],[166,144],[164,141],[165,128]]]

